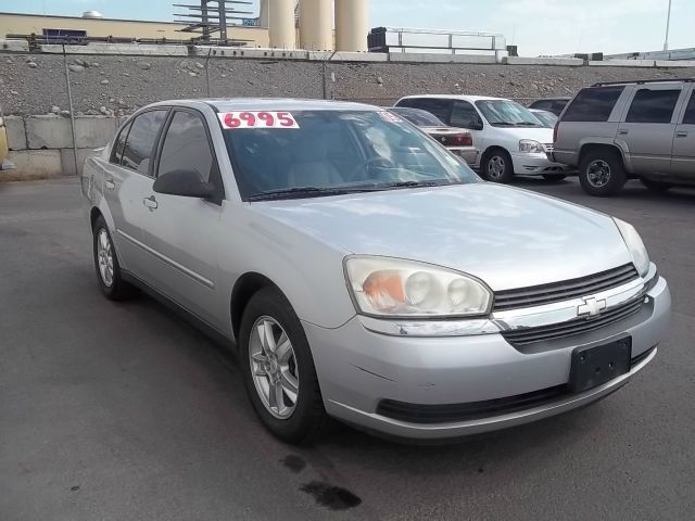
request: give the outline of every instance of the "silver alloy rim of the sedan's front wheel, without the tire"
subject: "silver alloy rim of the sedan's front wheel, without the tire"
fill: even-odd
[[[300,376],[294,350],[282,327],[260,317],[249,339],[249,363],[261,402],[275,418],[287,419],[296,407]]]

